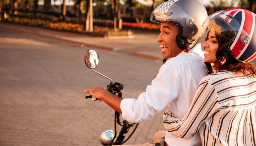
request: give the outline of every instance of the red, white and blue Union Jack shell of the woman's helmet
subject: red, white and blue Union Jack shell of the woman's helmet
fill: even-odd
[[[236,59],[249,62],[256,57],[256,31],[255,14],[245,9],[228,9],[220,12],[216,16],[221,17],[236,30],[236,36],[229,44],[229,49]],[[241,37],[247,34],[250,36],[249,43],[242,43]]]

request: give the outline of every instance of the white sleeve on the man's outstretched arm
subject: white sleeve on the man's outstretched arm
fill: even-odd
[[[178,95],[176,73],[171,64],[162,65],[151,85],[147,86],[146,92],[141,93],[137,100],[121,101],[123,118],[129,122],[140,123],[165,109]]]

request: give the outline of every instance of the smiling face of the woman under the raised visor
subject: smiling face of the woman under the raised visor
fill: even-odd
[[[208,33],[208,36],[205,39],[203,44],[204,47],[204,61],[215,63],[217,60],[215,54],[219,48],[219,43],[216,39],[216,35],[212,32]]]

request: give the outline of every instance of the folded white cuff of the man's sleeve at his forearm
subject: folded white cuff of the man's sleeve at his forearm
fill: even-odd
[[[133,122],[135,114],[133,113],[133,102],[136,99],[125,98],[121,101],[120,108],[122,111],[123,118],[128,122]]]

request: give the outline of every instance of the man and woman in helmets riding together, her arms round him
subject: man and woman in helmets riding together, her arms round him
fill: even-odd
[[[166,106],[166,131],[143,146],[256,145],[255,14],[227,9],[207,17],[197,0],[159,4],[151,21],[167,61],[138,99],[121,99],[102,87],[85,90],[122,113],[129,122],[151,119]],[[245,23],[246,21],[246,23]],[[203,44],[196,44],[204,31]],[[207,75],[205,62],[214,73]],[[156,138],[162,137],[162,138]]]

